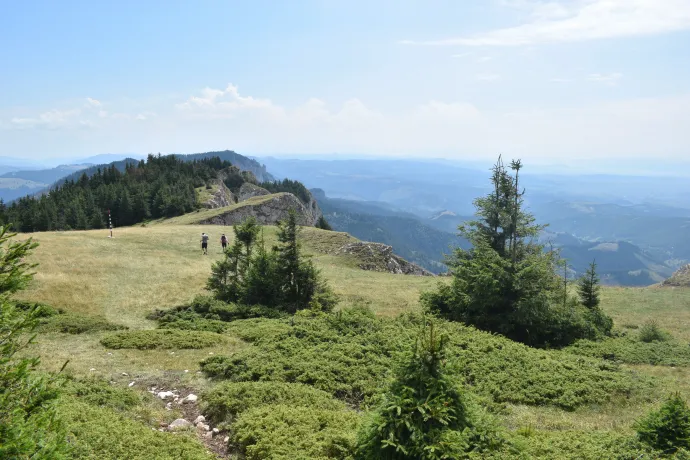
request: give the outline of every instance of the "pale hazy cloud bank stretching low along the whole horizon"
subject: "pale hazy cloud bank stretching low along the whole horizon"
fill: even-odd
[[[683,158],[690,149],[690,94],[511,112],[488,110],[467,101],[431,100],[386,112],[360,99],[330,106],[311,98],[287,107],[242,94],[232,85],[228,88],[208,88],[178,105],[142,104],[137,110],[113,110],[105,118],[99,116],[99,110],[83,109],[78,114],[54,110],[36,117],[0,116],[0,122],[9,121],[6,124],[14,128],[0,136],[0,151],[74,155],[231,148],[253,154],[347,152],[487,158],[504,152],[524,159],[553,159]],[[37,126],[40,123],[44,126]],[[24,129],[16,129],[19,125]],[[27,131],[48,126],[70,129],[53,129],[40,136]]]

